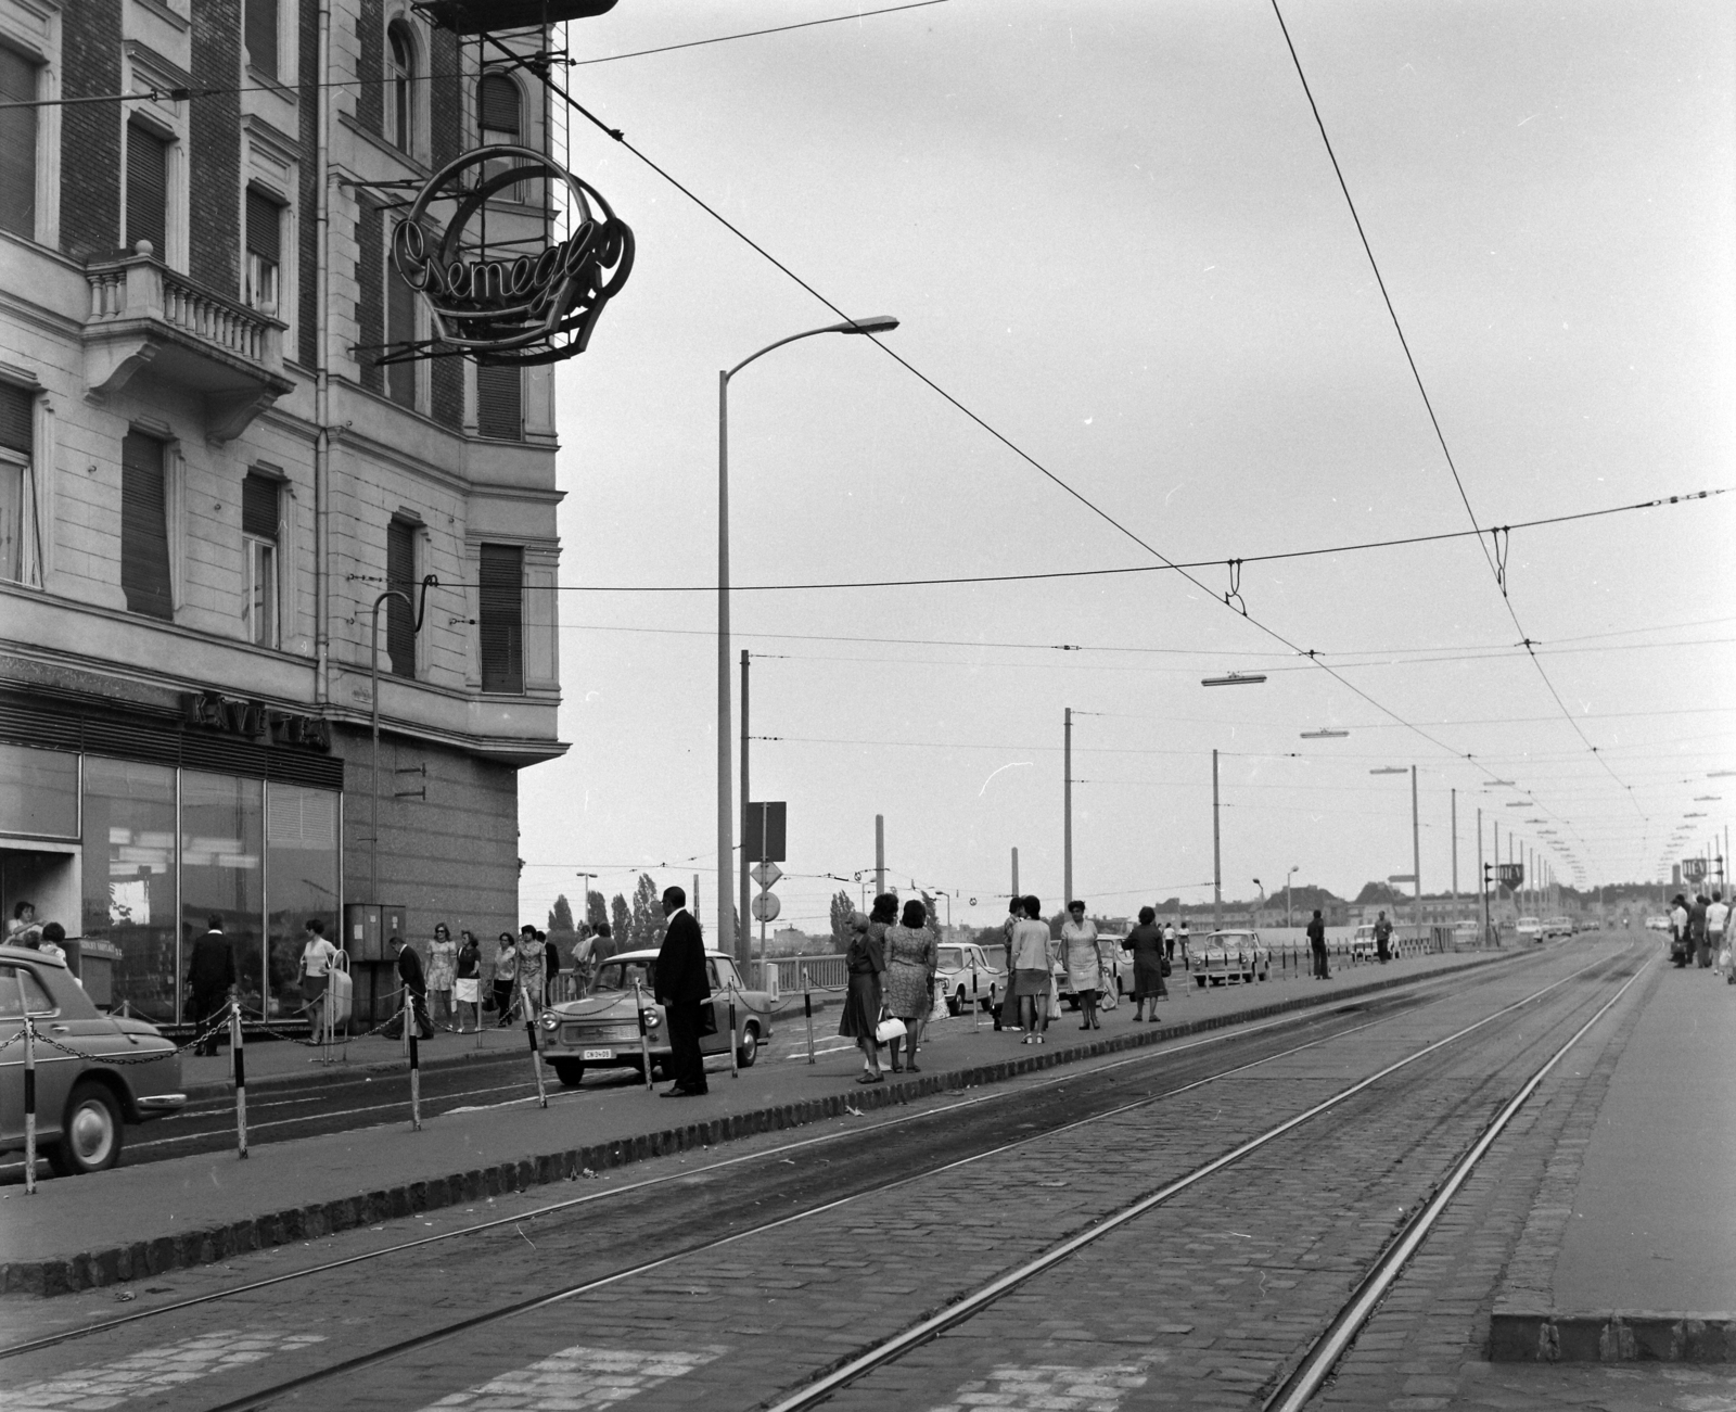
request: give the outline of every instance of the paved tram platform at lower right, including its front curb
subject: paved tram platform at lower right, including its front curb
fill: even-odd
[[[1736,986],[1653,966],[1595,1122],[1562,1136],[1509,1263],[1500,1362],[1736,1362]]]

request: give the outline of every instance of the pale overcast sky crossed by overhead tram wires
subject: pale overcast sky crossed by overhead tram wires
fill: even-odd
[[[847,9],[621,0],[573,54]],[[1736,485],[1736,10],[1283,17],[1477,521]],[[1059,900],[1064,707],[1075,891],[1108,914],[1210,900],[1213,747],[1231,898],[1292,867],[1340,894],[1410,872],[1408,782],[1377,766],[1420,769],[1429,891],[1453,788],[1465,889],[1477,808],[1503,854],[1510,825],[1594,884],[1727,825],[1736,778],[1706,775],[1736,768],[1736,495],[1512,533],[1512,613],[1561,705],[1488,538],[1248,563],[1248,617],[1222,601],[1233,558],[1470,525],[1271,3],[946,0],[571,85],[835,304],[901,318],[889,347],[1106,516],[1219,561],[1203,589],[740,592],[785,920],[826,929],[825,874],[871,868],[877,813],[891,881],[958,893],[953,920],[1003,915],[1012,848]],[[571,165],[639,257],[559,370],[562,582],[705,589],[717,370],[833,314],[594,129]],[[1153,563],[865,339],[743,372],[731,472],[736,584]],[[521,780],[526,915],[585,868],[609,894],[700,872],[710,924],[715,594],[562,592],[561,620],[573,749]],[[1229,670],[1269,681],[1200,686]],[[1321,726],[1351,735],[1300,738]]]

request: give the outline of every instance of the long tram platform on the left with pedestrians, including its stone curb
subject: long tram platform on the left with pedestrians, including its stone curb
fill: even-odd
[[[455,1110],[427,1120],[420,1132],[410,1131],[404,1113],[403,1120],[378,1127],[257,1146],[247,1162],[234,1153],[207,1153],[43,1181],[35,1197],[12,1188],[0,1197],[0,1290],[56,1294],[141,1278],[389,1216],[571,1179],[587,1169],[1312,1009],[1420,976],[1500,966],[1516,955],[1524,953],[1448,953],[1387,967],[1345,967],[1328,983],[1191,990],[1168,1002],[1161,1025],[1132,1023],[1132,1006],[1123,1004],[1104,1016],[1101,1032],[1088,1035],[1080,1033],[1075,1014],[1062,1014],[1042,1047],[1021,1046],[1017,1035],[995,1033],[988,1023],[974,1030],[969,1016],[941,1019],[924,1046],[920,1075],[871,1087],[854,1084],[859,1058],[830,1035],[835,1023],[816,1025],[830,1040],[826,1052],[814,1066],[802,1063],[797,1046],[806,1030],[797,1013],[793,1021],[779,1025],[778,1044],[740,1082],[729,1079],[727,1059],[720,1066],[713,1061],[712,1092],[703,1099],[663,1101],[630,1082],[599,1087],[587,1082],[576,1091],[550,1085],[547,1112],[535,1101]],[[467,1042],[451,1039],[453,1046]],[[516,1042],[523,1044],[523,1033]],[[437,1051],[439,1044],[429,1047]],[[257,1052],[271,1049],[283,1051],[285,1072],[290,1066],[306,1072],[309,1051],[279,1044],[259,1046]],[[210,1063],[222,1066],[227,1059]],[[250,1049],[250,1087],[253,1068]]]

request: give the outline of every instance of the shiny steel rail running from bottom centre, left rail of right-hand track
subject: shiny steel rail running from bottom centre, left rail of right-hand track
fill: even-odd
[[[1620,960],[1620,959],[1621,957],[1614,957],[1614,960]],[[1604,964],[1604,962],[1594,962],[1594,966],[1601,966],[1601,964]],[[979,1313],[986,1306],[996,1303],[1002,1296],[1005,1296],[1005,1294],[1012,1292],[1014,1289],[1017,1289],[1019,1285],[1029,1282],[1033,1277],[1042,1275],[1045,1270],[1052,1270],[1054,1266],[1057,1266],[1062,1261],[1069,1259],[1078,1250],[1083,1250],[1087,1245],[1094,1245],[1095,1242],[1102,1240],[1102,1237],[1106,1237],[1109,1231],[1120,1230],[1128,1221],[1139,1219],[1147,1211],[1151,1211],[1151,1209],[1154,1209],[1158,1205],[1163,1205],[1165,1202],[1172,1200],[1174,1197],[1180,1195],[1182,1191],[1189,1190],[1191,1186],[1196,1186],[1198,1183],[1205,1181],[1207,1178],[1210,1178],[1210,1176],[1224,1171],[1226,1167],[1240,1162],[1243,1157],[1248,1157],[1250,1153],[1259,1151],[1260,1148],[1267,1146],[1269,1143],[1274,1143],[1276,1139],[1283,1138],[1285,1134],[1295,1131],[1302,1124],[1311,1122],[1312,1118],[1319,1117],[1321,1113],[1326,1113],[1326,1112],[1337,1108],[1340,1103],[1345,1103],[1347,1099],[1354,1098],[1356,1094],[1363,1092],[1364,1089],[1373,1087],[1382,1079],[1387,1079],[1389,1075],[1397,1073],[1403,1068],[1408,1068],[1410,1065],[1417,1063],[1418,1059],[1427,1058],[1429,1054],[1434,1054],[1436,1051],[1446,1047],[1448,1044],[1453,1044],[1455,1040],[1460,1040],[1465,1035],[1470,1035],[1470,1033],[1481,1030],[1484,1025],[1489,1025],[1491,1021],[1500,1019],[1503,1014],[1509,1014],[1510,1011],[1519,1009],[1521,1006],[1529,1004],[1538,995],[1543,995],[1549,990],[1554,990],[1555,986],[1564,985],[1566,981],[1573,980],[1575,976],[1578,976],[1578,974],[1581,974],[1583,971],[1588,971],[1588,969],[1592,969],[1592,967],[1590,966],[1581,967],[1580,971],[1575,971],[1573,974],[1564,976],[1562,980],[1555,981],[1554,985],[1545,986],[1543,990],[1536,992],[1535,995],[1528,995],[1522,1000],[1516,1000],[1510,1006],[1503,1006],[1502,1009],[1495,1011],[1489,1016],[1484,1016],[1483,1019],[1476,1021],[1474,1025],[1467,1025],[1463,1030],[1458,1030],[1458,1032],[1448,1035],[1446,1039],[1437,1039],[1432,1044],[1427,1044],[1422,1049],[1415,1051],[1413,1054],[1408,1054],[1406,1058],[1403,1058],[1403,1059],[1399,1059],[1396,1063],[1391,1063],[1391,1065],[1387,1065],[1385,1068],[1382,1068],[1382,1070],[1378,1070],[1375,1073],[1370,1073],[1366,1079],[1359,1079],[1356,1084],[1351,1084],[1349,1087],[1340,1089],[1332,1098],[1326,1098],[1326,1099],[1323,1099],[1323,1101],[1319,1101],[1319,1103],[1305,1108],[1304,1112],[1295,1113],[1290,1118],[1285,1118],[1285,1122],[1276,1124],[1274,1127],[1269,1127],[1260,1136],[1250,1138],[1248,1141],[1245,1141],[1245,1143],[1231,1148],[1229,1151],[1226,1151],[1226,1153],[1212,1158],[1210,1162],[1205,1162],[1200,1167],[1194,1167],[1186,1176],[1177,1178],[1175,1181],[1167,1183],[1165,1186],[1160,1186],[1156,1191],[1151,1191],[1149,1195],[1141,1197],[1135,1202],[1130,1202],[1128,1205],[1121,1207],[1120,1211],[1116,1211],[1116,1212],[1113,1212],[1109,1216],[1104,1216],[1090,1230],[1080,1231],[1078,1235],[1069,1237],[1068,1240],[1062,1240],[1059,1245],[1052,1247],[1050,1250],[1045,1250],[1042,1256],[1036,1256],[1035,1259],[1026,1261],[1024,1264],[1017,1266],[1016,1270],[1010,1270],[1005,1275],[1000,1275],[998,1278],[990,1280],[988,1283],[981,1285],[979,1289],[972,1290],[970,1294],[963,1296],[962,1299],[953,1301],[951,1304],[948,1304],[939,1313],[930,1315],[929,1318],[925,1318],[925,1320],[922,1320],[918,1323],[913,1323],[910,1329],[903,1330],[901,1334],[894,1334],[891,1339],[885,1339],[884,1343],[877,1344],[875,1348],[868,1349],[866,1353],[863,1353],[863,1355],[852,1358],[851,1362],[844,1363],[842,1367],[833,1369],[830,1374],[826,1374],[826,1376],[823,1376],[823,1377],[809,1382],[806,1388],[802,1388],[797,1393],[783,1398],[781,1402],[774,1402],[774,1403],[769,1403],[769,1405],[767,1403],[759,1403],[759,1405],[762,1409],[766,1409],[766,1412],[804,1412],[804,1409],[809,1409],[809,1407],[814,1407],[814,1405],[825,1402],[833,1393],[840,1391],[842,1388],[847,1388],[851,1382],[859,1381],[863,1376],[873,1372],[875,1369],[884,1367],[885,1363],[896,1362],[904,1353],[910,1353],[913,1348],[917,1348],[920,1344],[925,1344],[925,1343],[939,1337],[948,1329],[951,1329],[951,1327],[955,1327],[958,1323],[963,1323],[967,1318],[974,1316],[976,1313]],[[1639,976],[1635,974],[1634,980],[1637,980],[1637,978]],[[1628,985],[1632,985],[1634,980],[1630,980]],[[1627,990],[1627,986],[1623,986],[1623,990]],[[1620,992],[1618,992],[1618,999],[1620,999]],[[1609,1004],[1613,1004],[1613,1000]],[[1601,1013],[1602,1011],[1599,1011],[1599,1014]]]

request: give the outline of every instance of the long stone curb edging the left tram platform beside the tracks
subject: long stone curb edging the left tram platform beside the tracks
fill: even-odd
[[[804,1127],[825,1118],[842,1118],[847,1113],[861,1115],[875,1108],[889,1108],[894,1103],[908,1103],[913,1098],[927,1098],[948,1089],[983,1087],[1021,1073],[1035,1073],[1076,1063],[1078,1059],[1094,1059],[1123,1049],[1165,1044],[1186,1035],[1220,1030],[1229,1025],[1245,1025],[1255,1019],[1269,1019],[1271,1016],[1292,1011],[1335,1006],[1359,995],[1415,981],[1462,976],[1467,971],[1479,971],[1486,966],[1496,966],[1522,955],[1535,955],[1535,952],[1498,952],[1453,971],[1436,973],[1434,976],[1389,976],[1387,980],[1345,986],[1325,995],[1295,995],[1288,1000],[1276,1000],[1233,1014],[1201,1016],[1180,1025],[1161,1025],[1137,1033],[1121,1033],[1115,1039],[1055,1049],[1042,1047],[1019,1058],[976,1065],[950,1073],[904,1079],[885,1085],[852,1085],[849,1091],[828,1098],[779,1103],[682,1127],[665,1127],[660,1132],[641,1132],[634,1138],[616,1138],[582,1148],[562,1148],[561,1151],[526,1157],[517,1162],[502,1162],[493,1167],[470,1167],[424,1181],[404,1181],[335,1202],[285,1207],[264,1216],[250,1216],[227,1224],[179,1231],[151,1240],[135,1240],[127,1245],[111,1245],[101,1250],[82,1250],[73,1256],[36,1261],[7,1261],[0,1264],[0,1294],[71,1294],[82,1289],[163,1275],[186,1266],[212,1264],[247,1254],[248,1250],[285,1245],[292,1240],[314,1240],[354,1226],[370,1226],[444,1205],[460,1205],[484,1197],[524,1191],[529,1186],[542,1186],[554,1181],[571,1181],[585,1171],[601,1172],[608,1167],[625,1167],[632,1162],[646,1162],[654,1157],[691,1151],[693,1148],[710,1148],[759,1132]]]

